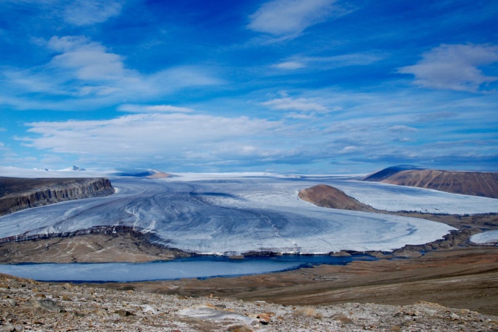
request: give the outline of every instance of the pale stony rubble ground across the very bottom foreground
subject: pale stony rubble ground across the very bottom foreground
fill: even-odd
[[[496,331],[498,318],[429,302],[293,307],[50,285],[0,276],[0,331]]]

